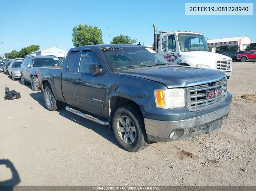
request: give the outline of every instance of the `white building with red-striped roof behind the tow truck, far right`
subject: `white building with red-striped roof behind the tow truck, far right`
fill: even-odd
[[[231,37],[231,38],[219,38],[219,39],[209,39],[207,44],[211,47],[224,46],[224,45],[237,45],[242,51],[246,48],[246,44],[253,43],[251,39],[247,36],[242,37]],[[214,51],[215,52],[215,51]]]

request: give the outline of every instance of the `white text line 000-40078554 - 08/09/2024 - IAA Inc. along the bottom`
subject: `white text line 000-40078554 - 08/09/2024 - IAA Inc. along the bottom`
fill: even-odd
[[[158,186],[94,186],[93,190],[160,190]]]

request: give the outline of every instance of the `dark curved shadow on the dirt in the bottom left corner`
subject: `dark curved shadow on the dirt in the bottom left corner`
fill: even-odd
[[[9,168],[9,170],[11,170],[12,178],[4,181],[0,180],[0,191],[11,191],[13,190],[15,185],[20,183],[19,174],[13,166],[12,162],[9,161],[8,159],[0,159],[0,167],[2,167],[2,165],[5,165],[6,168]]]

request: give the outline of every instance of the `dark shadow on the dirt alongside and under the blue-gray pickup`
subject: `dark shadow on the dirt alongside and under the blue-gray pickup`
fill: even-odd
[[[45,100],[44,100],[44,94],[42,94],[41,91],[36,92],[36,93],[31,93],[29,95],[34,100],[36,100],[42,107],[44,107],[47,110],[47,107],[45,105]],[[66,106],[68,106],[68,105],[66,103],[62,102],[62,109],[57,111],[57,112],[59,112],[59,114],[61,116],[73,121],[74,123],[84,126],[87,129],[91,129],[95,133],[97,133],[97,134],[101,135],[103,138],[107,139],[109,142],[111,142],[111,143],[115,144],[116,146],[118,146],[119,148],[121,148],[115,139],[114,133],[109,130],[109,126],[100,125],[98,123],[95,123],[93,121],[85,119],[81,116],[78,116],[75,113],[71,113],[71,112],[65,110]],[[52,111],[48,111],[48,112],[52,112]]]

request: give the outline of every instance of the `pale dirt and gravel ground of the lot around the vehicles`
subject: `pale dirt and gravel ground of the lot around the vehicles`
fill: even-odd
[[[5,86],[21,99],[3,100]],[[256,63],[234,62],[228,91],[255,94]],[[129,153],[108,126],[64,107],[48,111],[40,91],[3,73],[0,97],[0,182],[17,173],[11,184],[256,185],[255,102],[233,99],[226,123],[211,135]]]

